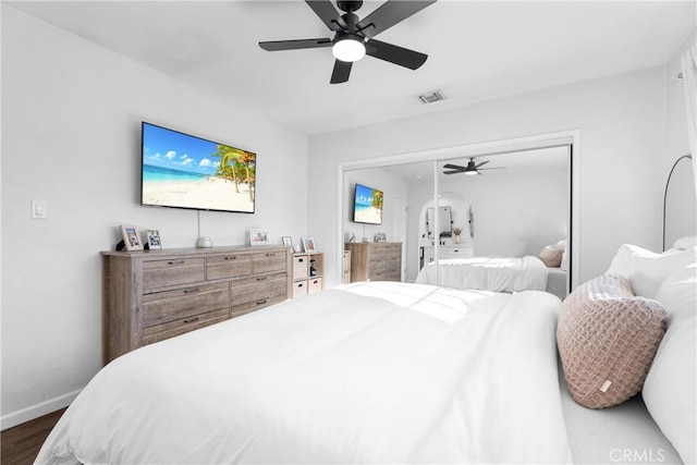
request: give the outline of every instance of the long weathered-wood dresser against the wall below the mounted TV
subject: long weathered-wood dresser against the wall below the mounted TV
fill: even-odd
[[[281,246],[102,252],[103,363],[291,296]]]

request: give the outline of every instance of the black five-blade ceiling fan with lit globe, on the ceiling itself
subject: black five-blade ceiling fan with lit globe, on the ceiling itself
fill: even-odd
[[[259,47],[268,51],[331,47],[335,58],[331,84],[348,81],[353,62],[360,60],[366,54],[409,70],[418,69],[428,58],[427,54],[383,42],[374,39],[374,37],[431,3],[436,3],[436,0],[386,1],[363,20],[354,13],[360,9],[363,0],[337,1],[337,7],[345,12],[343,14],[339,14],[329,0],[305,0],[305,2],[325,25],[335,33],[332,39],[260,41]]]

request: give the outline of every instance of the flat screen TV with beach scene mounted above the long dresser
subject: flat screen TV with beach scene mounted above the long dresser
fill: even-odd
[[[143,122],[142,157],[142,205],[254,213],[256,154]]]

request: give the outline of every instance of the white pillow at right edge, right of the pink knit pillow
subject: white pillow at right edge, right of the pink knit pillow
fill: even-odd
[[[644,402],[684,463],[696,463],[697,261],[671,273],[656,296],[668,330],[644,383]]]

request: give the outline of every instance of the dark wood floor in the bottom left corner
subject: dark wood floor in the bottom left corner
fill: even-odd
[[[65,408],[0,432],[2,465],[33,464],[41,444]]]

